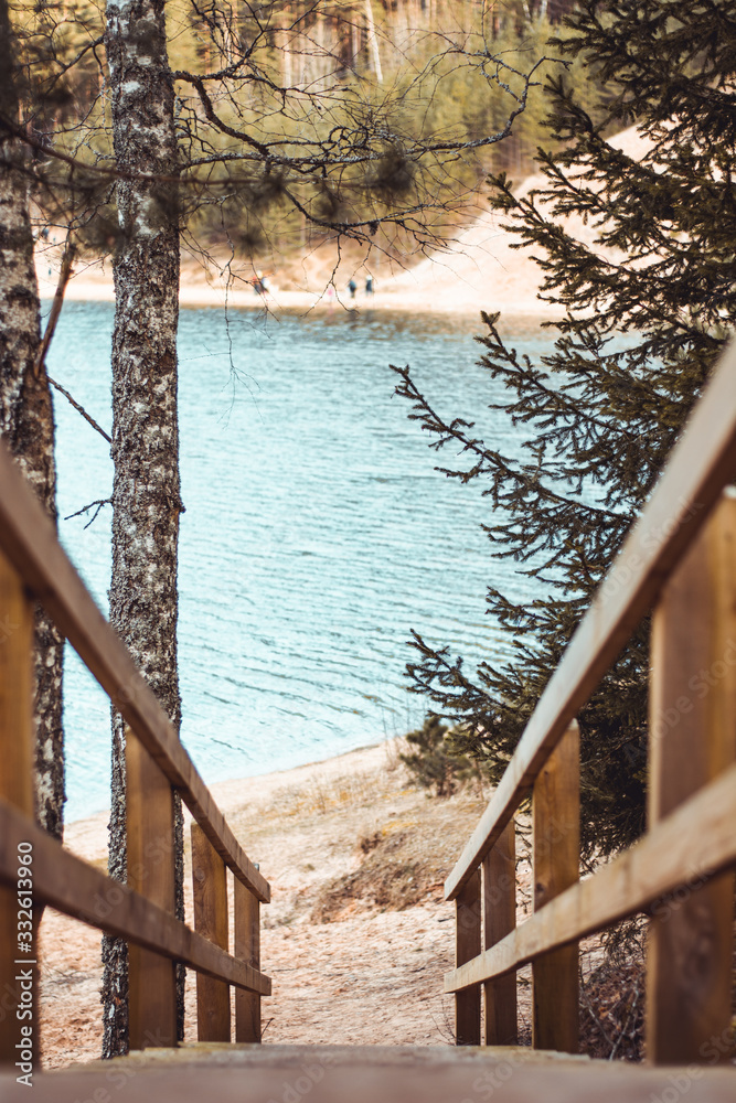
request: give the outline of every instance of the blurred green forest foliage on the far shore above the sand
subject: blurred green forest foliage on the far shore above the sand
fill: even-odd
[[[471,0],[371,10],[369,20],[355,0],[167,6],[191,251],[248,260],[341,235],[405,259],[474,215],[489,171],[531,167],[541,82],[559,65],[546,4],[510,2],[492,18]],[[14,18],[23,121],[39,142],[36,203],[87,251],[104,250],[109,225],[97,210],[115,204],[115,159],[103,9],[19,0]],[[145,49],[145,23],[139,34]],[[583,93],[580,72],[569,64]],[[45,148],[75,168],[44,163]]]

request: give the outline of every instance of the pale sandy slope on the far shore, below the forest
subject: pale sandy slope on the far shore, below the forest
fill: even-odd
[[[631,157],[639,157],[648,148],[634,128],[611,139],[611,144]],[[543,184],[542,176],[527,178],[518,194],[527,194]],[[333,310],[340,308],[386,310],[445,311],[473,313],[479,310],[501,310],[506,313],[552,317],[555,311],[537,298],[541,271],[527,249],[516,249],[520,238],[503,226],[505,218],[493,211],[486,211],[467,229],[462,231],[451,247],[436,253],[418,265],[395,274],[378,275],[376,295],[367,299],[363,292],[366,271],[364,258],[345,254],[335,269],[337,255],[331,248],[316,250],[296,268],[273,277],[269,295],[256,295],[247,283],[254,270],[242,265],[234,282],[214,269],[209,274],[194,260],[184,259],[182,266],[180,302],[186,307],[230,307],[268,310]],[[586,244],[595,238],[595,227],[579,218],[568,218],[566,229]],[[39,250],[38,271],[41,293],[53,296],[57,278],[58,250],[43,247]],[[407,259],[407,266],[409,265]],[[387,267],[385,261],[382,268]],[[236,269],[233,269],[236,271]],[[358,297],[350,300],[346,283],[353,274],[359,283]],[[334,277],[334,288],[330,288]],[[282,286],[279,287],[278,283]],[[77,261],[66,297],[88,301],[114,301],[111,267],[107,264]]]

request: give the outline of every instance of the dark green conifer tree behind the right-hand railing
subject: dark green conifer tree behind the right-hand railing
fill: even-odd
[[[397,370],[433,447],[467,461],[447,474],[487,482],[492,555],[540,583],[526,603],[488,590],[513,643],[504,666],[471,675],[415,634],[412,688],[462,721],[461,749],[480,748],[495,779],[736,320],[736,0],[582,0],[565,23],[557,45],[602,89],[595,114],[564,76],[550,81],[544,185],[516,197],[505,176],[491,181],[493,204],[538,258],[542,298],[564,308],[537,363],[483,314],[481,364],[506,394],[491,408],[526,427],[522,459],[438,415]],[[638,159],[606,137],[632,124],[648,142]],[[595,228],[594,245],[568,233],[569,215]],[[641,624],[579,716],[588,857],[643,825],[648,634]]]

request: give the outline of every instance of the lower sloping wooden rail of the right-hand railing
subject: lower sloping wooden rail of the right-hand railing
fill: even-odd
[[[558,896],[501,942],[445,976],[457,992],[646,911],[686,882],[736,866],[736,765],[690,797],[632,847]],[[685,888],[686,892],[691,891]]]

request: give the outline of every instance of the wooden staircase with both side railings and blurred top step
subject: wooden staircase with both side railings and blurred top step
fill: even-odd
[[[288,1047],[259,1045],[268,882],[0,449],[0,1101],[734,1103],[736,495],[726,488],[735,478],[732,346],[447,881],[457,965],[445,988],[458,1048]],[[125,886],[32,820],[36,600],[127,724]],[[575,717],[651,610],[649,829],[580,881]],[[194,929],[173,915],[174,790],[195,821]],[[535,911],[516,929],[514,815],[530,794]],[[128,1057],[39,1071],[34,947],[45,904],[128,941]],[[640,912],[650,917],[650,1067],[575,1057],[578,942]],[[198,973],[194,1046],[175,1046],[177,962]],[[532,1049],[514,1045],[515,972],[529,962]]]

